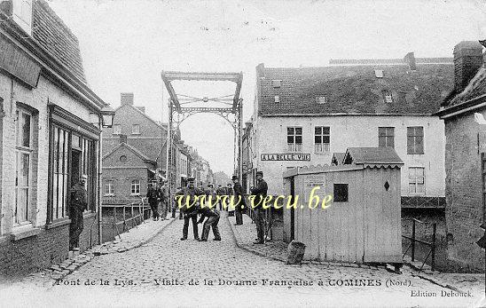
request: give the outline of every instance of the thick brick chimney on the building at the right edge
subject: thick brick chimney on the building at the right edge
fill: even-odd
[[[454,47],[454,90],[463,91],[482,66],[482,45],[462,41]]]

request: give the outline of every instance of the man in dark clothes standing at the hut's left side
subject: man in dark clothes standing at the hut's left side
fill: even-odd
[[[256,233],[258,236],[258,240],[254,244],[265,243],[265,209],[263,209],[263,201],[267,197],[268,189],[267,182],[263,179],[263,172],[256,171],[256,187],[250,189],[254,198],[254,205],[252,206],[255,210]]]

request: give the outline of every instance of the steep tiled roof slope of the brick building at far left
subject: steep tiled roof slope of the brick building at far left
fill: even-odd
[[[86,83],[76,36],[44,0],[32,2],[32,36],[46,51]]]

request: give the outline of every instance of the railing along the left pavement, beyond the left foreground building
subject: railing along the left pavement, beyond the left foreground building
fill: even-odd
[[[116,236],[120,238],[120,233],[127,232],[134,227],[137,228],[138,225],[145,222],[147,217],[150,217],[150,206],[146,198],[129,204],[103,204],[102,209],[106,209],[103,214],[104,225],[111,225],[113,238]],[[110,209],[113,210],[110,211]],[[105,235],[104,239],[106,239]]]

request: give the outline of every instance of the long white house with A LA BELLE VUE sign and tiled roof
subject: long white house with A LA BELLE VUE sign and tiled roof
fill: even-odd
[[[251,176],[269,193],[282,173],[328,164],[348,147],[393,147],[404,161],[404,207],[443,207],[443,122],[452,59],[338,59],[331,67],[256,67]]]

